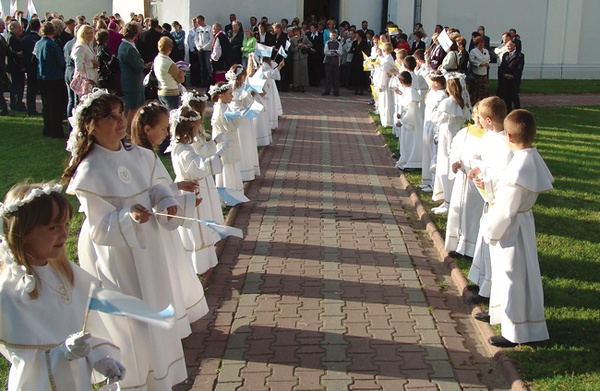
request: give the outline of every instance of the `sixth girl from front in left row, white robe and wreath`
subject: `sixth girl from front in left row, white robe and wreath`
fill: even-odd
[[[227,80],[233,83],[233,97],[229,103],[229,110],[242,112],[250,107],[254,99],[246,91],[246,70],[239,64],[232,65],[225,74]],[[238,124],[238,138],[240,142],[242,180],[253,181],[260,175],[258,162],[258,146],[256,145],[256,131],[252,119],[242,116]]]

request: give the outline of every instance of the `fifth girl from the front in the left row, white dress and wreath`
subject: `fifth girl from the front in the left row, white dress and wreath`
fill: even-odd
[[[215,182],[219,187],[228,187],[237,191],[244,191],[241,167],[240,139],[237,135],[239,118],[233,116],[227,119],[225,113],[228,105],[233,99],[231,84],[219,82],[210,87],[208,91],[214,102],[213,115],[210,120],[212,125],[212,137],[217,139],[219,149],[224,149],[223,143],[227,143],[227,151],[222,155],[223,170],[215,173]]]

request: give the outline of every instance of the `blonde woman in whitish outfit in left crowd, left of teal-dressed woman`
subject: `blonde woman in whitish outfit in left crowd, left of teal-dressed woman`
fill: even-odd
[[[85,25],[77,30],[77,42],[71,50],[71,58],[75,62],[75,75],[71,81],[71,89],[78,96],[92,92],[98,85],[98,60],[93,48],[94,29]]]

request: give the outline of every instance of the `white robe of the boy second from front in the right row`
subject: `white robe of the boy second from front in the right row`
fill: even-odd
[[[479,143],[478,159],[472,163],[474,167],[479,167],[481,173],[479,178],[483,179],[485,184],[484,191],[480,192],[484,199],[483,213],[487,213],[488,205],[494,202],[495,189],[498,184],[498,178],[512,159],[512,151],[506,144],[504,131],[493,132],[488,130],[481,137]],[[490,297],[492,289],[492,266],[490,264],[489,245],[483,240],[482,233],[477,234],[475,242],[475,254],[473,263],[469,269],[467,278],[479,285],[479,295]]]

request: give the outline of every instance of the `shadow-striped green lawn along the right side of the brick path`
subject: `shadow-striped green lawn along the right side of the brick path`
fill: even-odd
[[[535,145],[555,179],[554,191],[540,195],[533,209],[550,340],[509,355],[535,390],[598,390],[600,106],[531,111],[538,124]],[[391,131],[378,129],[397,148]],[[413,185],[421,180],[420,172],[406,177]],[[419,196],[430,209],[431,196]],[[445,221],[430,217],[443,232]],[[466,275],[470,261],[462,258],[458,264]]]

